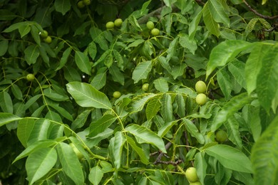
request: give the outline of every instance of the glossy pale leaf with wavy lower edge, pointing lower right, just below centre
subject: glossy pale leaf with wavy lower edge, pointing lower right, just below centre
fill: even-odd
[[[131,124],[128,125],[128,127],[125,127],[125,131],[133,134],[136,139],[139,138],[139,143],[153,144],[158,147],[161,152],[167,153],[163,139],[161,139],[158,134],[155,134],[155,132],[151,131],[150,129],[140,125]]]

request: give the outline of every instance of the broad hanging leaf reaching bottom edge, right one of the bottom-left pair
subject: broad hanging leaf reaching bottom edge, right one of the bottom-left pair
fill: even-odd
[[[57,144],[59,161],[63,172],[74,181],[76,185],[84,184],[84,175],[76,153],[70,145],[60,142]]]

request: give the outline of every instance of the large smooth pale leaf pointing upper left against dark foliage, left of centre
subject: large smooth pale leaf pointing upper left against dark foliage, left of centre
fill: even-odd
[[[66,88],[68,93],[73,96],[74,100],[81,107],[95,107],[108,110],[112,108],[108,97],[88,83],[72,82],[68,83]]]

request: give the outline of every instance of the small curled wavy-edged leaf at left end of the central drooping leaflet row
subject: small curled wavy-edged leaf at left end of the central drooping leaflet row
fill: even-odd
[[[130,102],[129,105],[130,113],[139,112],[140,110],[143,110],[143,107],[148,102],[148,100],[155,96],[156,95],[153,93],[145,93],[143,95],[138,95],[135,98],[133,98],[132,102]]]

